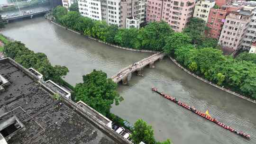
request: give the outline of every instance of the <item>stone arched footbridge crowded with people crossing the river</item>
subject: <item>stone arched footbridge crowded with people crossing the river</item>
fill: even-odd
[[[137,63],[128,65],[127,67],[123,68],[121,71],[116,73],[114,76],[112,76],[111,79],[116,83],[122,81],[123,84],[128,84],[132,72],[137,72],[137,75],[142,76],[142,71],[145,66],[149,65],[150,68],[154,68],[155,61],[162,60],[164,56],[164,53],[153,54],[147,58],[138,61]]]

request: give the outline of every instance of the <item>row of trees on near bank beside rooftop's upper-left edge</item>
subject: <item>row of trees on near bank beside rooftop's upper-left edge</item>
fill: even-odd
[[[14,59],[25,68],[33,67],[44,75],[45,80],[52,80],[62,83],[62,77],[67,74],[68,68],[65,66],[52,66],[47,56],[43,53],[34,53],[23,43],[15,41],[4,45],[4,54]]]

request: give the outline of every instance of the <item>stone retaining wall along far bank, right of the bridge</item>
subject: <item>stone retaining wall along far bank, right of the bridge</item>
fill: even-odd
[[[183,71],[187,72],[188,74],[192,75],[193,77],[195,77],[195,78],[197,78],[197,79],[199,79],[199,80],[201,80],[201,81],[203,81],[203,82],[206,82],[206,83],[210,84],[211,86],[213,86],[213,87],[215,87],[215,88],[218,88],[219,90],[223,90],[223,91],[225,91],[225,92],[228,92],[229,94],[232,94],[232,95],[234,95],[234,96],[237,96],[237,97],[239,97],[239,98],[248,100],[248,101],[250,101],[250,102],[256,104],[256,100],[249,99],[248,97],[242,96],[242,95],[240,95],[240,94],[238,94],[238,93],[236,93],[236,92],[234,92],[234,91],[231,91],[231,90],[222,88],[222,87],[220,87],[220,86],[218,86],[218,85],[212,83],[211,81],[207,81],[207,80],[201,78],[200,76],[197,76],[196,74],[194,74],[194,73],[188,71],[186,68],[184,68],[184,67],[183,67],[182,65],[180,65],[178,62],[176,62],[176,60],[174,60],[171,56],[169,56],[169,57],[170,57],[170,59],[171,59],[178,67],[180,67],[181,69],[183,69]]]

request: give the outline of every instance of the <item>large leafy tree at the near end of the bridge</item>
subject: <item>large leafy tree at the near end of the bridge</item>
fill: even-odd
[[[111,104],[118,105],[122,97],[117,92],[117,84],[107,78],[102,71],[93,70],[90,74],[83,75],[83,83],[78,83],[72,93],[75,101],[82,100],[91,108],[102,115],[110,114]]]

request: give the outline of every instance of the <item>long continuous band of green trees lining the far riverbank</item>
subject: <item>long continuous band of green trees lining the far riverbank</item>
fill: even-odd
[[[204,35],[208,27],[200,18],[191,18],[183,32],[178,33],[163,21],[140,29],[125,29],[93,21],[75,11],[67,12],[63,7],[55,8],[54,16],[61,25],[110,44],[164,51],[203,78],[256,99],[255,54],[242,53],[236,59],[223,56],[218,41]]]

